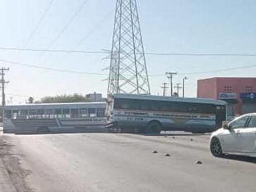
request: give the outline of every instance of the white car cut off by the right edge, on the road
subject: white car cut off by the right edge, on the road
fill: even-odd
[[[210,136],[213,156],[225,154],[256,157],[256,113],[242,115]]]

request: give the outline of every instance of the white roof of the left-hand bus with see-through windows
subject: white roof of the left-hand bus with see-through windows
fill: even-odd
[[[13,108],[60,108],[60,107],[105,107],[106,102],[78,102],[78,103],[29,103],[22,105],[6,105],[5,109]]]

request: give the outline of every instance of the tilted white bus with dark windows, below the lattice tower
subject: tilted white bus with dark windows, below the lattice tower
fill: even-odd
[[[226,120],[226,102],[216,99],[114,94],[106,128],[114,132],[212,132]]]

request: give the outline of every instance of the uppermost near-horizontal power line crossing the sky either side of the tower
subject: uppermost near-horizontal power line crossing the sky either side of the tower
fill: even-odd
[[[93,31],[93,30],[92,30]],[[88,34],[89,35],[89,34]],[[64,49],[36,49],[36,48],[15,48],[15,47],[0,47],[3,51],[34,51],[34,52],[59,52],[59,53],[89,53],[89,54],[106,54],[104,51],[76,51]],[[240,53],[153,53],[145,52],[145,55],[152,56],[230,56],[230,57],[256,57],[256,54],[240,54]]]

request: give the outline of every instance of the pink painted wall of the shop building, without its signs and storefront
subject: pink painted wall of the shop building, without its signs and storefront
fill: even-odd
[[[236,93],[237,114],[243,114],[241,93],[253,92],[256,92],[256,78],[218,77],[197,82],[197,97],[220,99],[220,93]]]

